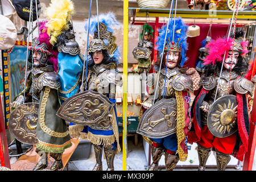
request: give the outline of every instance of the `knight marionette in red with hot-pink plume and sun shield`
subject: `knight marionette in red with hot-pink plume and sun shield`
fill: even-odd
[[[253,83],[243,77],[248,67],[243,59],[248,52],[247,42],[235,38],[219,38],[207,46],[209,55],[204,60],[201,88],[192,104],[188,134],[188,142],[198,146],[199,171],[205,170],[211,150],[216,152],[219,171],[225,170],[230,155],[243,161],[247,151],[247,94],[252,95]]]

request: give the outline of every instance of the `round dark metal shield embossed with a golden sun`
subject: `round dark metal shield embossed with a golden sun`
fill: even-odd
[[[238,130],[237,97],[226,95],[218,98],[210,106],[207,126],[215,137],[228,137]]]

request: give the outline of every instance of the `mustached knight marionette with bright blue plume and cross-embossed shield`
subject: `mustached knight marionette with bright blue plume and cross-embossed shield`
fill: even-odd
[[[163,154],[167,170],[173,170],[177,162],[185,161],[188,155],[189,92],[193,92],[193,81],[180,72],[186,60],[187,26],[181,18],[177,18],[175,24],[174,21],[168,24],[167,37],[167,24],[159,30],[157,49],[160,56],[163,53],[163,60],[162,64],[161,59],[156,61],[156,73],[148,75],[150,90],[143,101],[141,115],[146,111],[137,129],[151,144],[153,162],[148,170],[158,170]]]

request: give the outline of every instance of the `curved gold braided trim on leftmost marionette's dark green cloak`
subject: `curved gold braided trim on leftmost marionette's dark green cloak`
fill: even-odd
[[[49,129],[46,126],[46,122],[44,122],[44,117],[46,114],[46,104],[47,104],[47,100],[49,97],[49,92],[50,92],[50,88],[48,86],[46,86],[46,89],[44,90],[44,95],[42,98],[42,102],[41,102],[41,106],[40,106],[40,116],[39,116],[39,123],[40,123],[40,127],[41,129],[44,131],[44,133],[47,133],[48,135],[51,135],[52,137],[57,137],[57,138],[64,138],[67,137],[68,135],[68,130],[65,131],[64,133],[59,133],[56,131],[53,131],[51,129]]]

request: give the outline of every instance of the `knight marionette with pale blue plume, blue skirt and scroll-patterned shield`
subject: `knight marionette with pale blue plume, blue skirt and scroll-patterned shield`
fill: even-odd
[[[119,146],[118,122],[115,109],[115,88],[122,86],[116,72],[119,51],[112,27],[119,24],[114,14],[92,16],[87,21],[93,40],[89,43],[82,92],[66,100],[59,110],[61,117],[71,121],[72,137],[88,139],[96,156],[94,171],[102,170],[102,151],[105,152],[107,170],[114,170],[114,157]],[[86,58],[86,59],[87,59]]]

